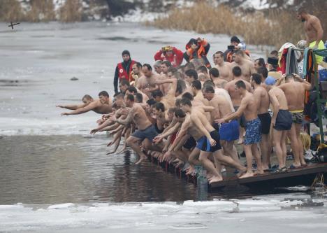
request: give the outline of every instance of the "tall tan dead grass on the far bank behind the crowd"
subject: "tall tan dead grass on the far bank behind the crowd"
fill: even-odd
[[[199,34],[239,35],[246,43],[274,45],[276,48],[285,42],[297,43],[305,38],[303,24],[296,20],[296,13],[277,10],[266,13],[232,12],[227,6],[215,8],[204,1],[184,10],[174,9],[168,17],[155,20],[152,25]]]

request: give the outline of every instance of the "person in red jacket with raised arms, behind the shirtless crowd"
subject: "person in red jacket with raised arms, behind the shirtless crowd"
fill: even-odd
[[[183,62],[183,52],[170,45],[161,48],[155,55],[154,60],[169,61],[174,67],[180,66]]]

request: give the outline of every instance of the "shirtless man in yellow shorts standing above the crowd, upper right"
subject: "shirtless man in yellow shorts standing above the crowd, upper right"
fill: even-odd
[[[298,9],[298,20],[304,22],[307,45],[309,45],[310,48],[324,49],[324,42],[321,41],[324,30],[321,27],[320,20],[314,15],[309,15],[307,9],[304,7]],[[321,63],[323,60],[321,56],[316,56],[316,58],[317,64]]]

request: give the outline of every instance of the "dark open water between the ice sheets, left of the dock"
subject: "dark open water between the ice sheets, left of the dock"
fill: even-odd
[[[126,151],[106,155],[106,136],[3,136],[0,204],[163,202],[196,199],[196,187]]]

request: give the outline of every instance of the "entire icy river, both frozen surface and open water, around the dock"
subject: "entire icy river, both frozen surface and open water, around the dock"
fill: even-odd
[[[96,113],[55,107],[112,95],[122,50],[153,64],[163,45],[184,50],[198,36],[210,41],[210,58],[229,43],[127,23],[1,23],[0,232],[326,232],[326,195],[296,188],[200,202],[194,185],[150,162],[133,165],[133,153],[106,155],[106,134],[89,134]]]

